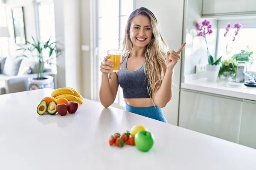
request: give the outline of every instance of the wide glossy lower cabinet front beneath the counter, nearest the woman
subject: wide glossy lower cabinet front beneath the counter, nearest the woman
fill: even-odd
[[[182,89],[179,126],[238,143],[242,104],[242,99]]]

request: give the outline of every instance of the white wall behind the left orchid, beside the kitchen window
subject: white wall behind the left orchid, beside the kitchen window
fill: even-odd
[[[203,0],[186,0],[186,19],[184,25],[184,34],[186,38],[186,49],[183,75],[195,74],[195,66],[198,64],[207,64],[207,48],[203,37],[197,36],[195,23],[202,22],[201,18]],[[206,18],[207,19],[207,18]],[[208,20],[208,19],[207,19]],[[215,57],[217,20],[209,20],[212,25],[212,34],[207,34],[208,48],[212,57]]]

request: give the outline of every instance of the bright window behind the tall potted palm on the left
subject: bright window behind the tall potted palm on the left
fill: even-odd
[[[46,42],[50,38],[50,42],[55,42],[55,16],[53,0],[43,0],[37,3],[37,37],[40,41]],[[45,51],[43,57],[49,56]],[[56,59],[51,60],[52,70],[56,71]]]

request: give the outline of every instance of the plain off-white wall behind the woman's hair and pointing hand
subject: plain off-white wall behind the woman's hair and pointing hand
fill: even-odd
[[[170,50],[178,50],[182,45],[183,0],[135,0],[135,7],[145,7],[157,18],[161,33]],[[180,86],[180,62],[175,66],[173,83]],[[163,108],[168,123],[177,125],[179,88],[173,87],[171,101]]]

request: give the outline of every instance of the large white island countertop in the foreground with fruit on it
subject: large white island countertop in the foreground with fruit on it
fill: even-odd
[[[0,95],[0,170],[255,170],[256,150],[84,99],[75,114],[39,116],[52,89]],[[155,143],[109,146],[143,125]]]

